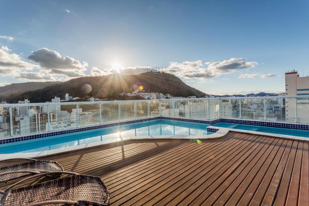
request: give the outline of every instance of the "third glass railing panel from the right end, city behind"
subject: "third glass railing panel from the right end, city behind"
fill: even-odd
[[[241,99],[241,118],[264,120],[264,99]]]

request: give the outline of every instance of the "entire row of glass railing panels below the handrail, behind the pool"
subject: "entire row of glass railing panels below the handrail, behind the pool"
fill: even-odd
[[[309,96],[1,104],[0,138],[156,116],[309,124]]]

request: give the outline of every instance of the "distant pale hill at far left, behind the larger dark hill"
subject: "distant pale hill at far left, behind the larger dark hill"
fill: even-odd
[[[53,86],[61,82],[25,82],[25,83],[12,83],[0,87],[0,99],[12,98],[21,95],[27,91],[44,89],[48,86]]]

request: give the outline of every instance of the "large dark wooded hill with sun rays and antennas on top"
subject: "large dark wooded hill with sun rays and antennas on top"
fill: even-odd
[[[66,93],[70,96],[84,98],[93,96],[100,99],[121,99],[122,92],[129,93],[139,86],[146,92],[158,92],[173,96],[205,96],[205,93],[186,85],[173,74],[146,72],[136,75],[110,74],[100,77],[81,77],[49,86],[44,89],[24,92],[8,99],[10,103],[29,99],[31,103],[50,101],[54,96],[64,99]]]

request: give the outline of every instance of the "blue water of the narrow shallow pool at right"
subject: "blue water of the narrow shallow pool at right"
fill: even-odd
[[[250,131],[256,131],[256,132],[284,134],[284,135],[291,135],[291,136],[298,136],[298,137],[309,137],[309,131],[306,131],[306,130],[262,127],[262,126],[246,125],[246,124],[224,123],[224,122],[214,124],[212,126],[233,128],[233,129],[243,129],[243,130],[250,130]]]

